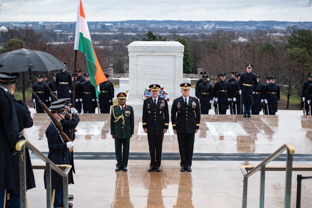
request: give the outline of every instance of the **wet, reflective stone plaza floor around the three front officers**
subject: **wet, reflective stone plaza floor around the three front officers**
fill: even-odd
[[[135,113],[135,112],[134,112]],[[212,113],[212,110],[211,112]],[[74,208],[86,207],[241,207],[243,175],[240,166],[256,166],[285,143],[295,146],[293,167],[311,166],[312,118],[302,111],[278,115],[202,115],[195,134],[192,172],[180,172],[177,136],[171,122],[163,139],[161,172],[148,172],[149,145],[142,117],[135,117],[130,139],[128,171],[115,172],[115,145],[110,114],[79,114],[75,140]],[[33,114],[26,130],[30,142],[47,155],[45,130],[50,120]],[[171,141],[172,139],[172,141]],[[284,152],[286,153],[286,152]],[[31,154],[33,165],[44,164]],[[285,154],[269,163],[285,166]],[[28,191],[31,207],[46,206],[43,170],[34,170],[36,188]],[[293,172],[291,207],[296,206],[297,174]],[[302,181],[301,207],[312,207],[312,179]],[[265,207],[284,207],[285,172],[266,172]],[[247,207],[259,207],[260,172],[248,179]]]

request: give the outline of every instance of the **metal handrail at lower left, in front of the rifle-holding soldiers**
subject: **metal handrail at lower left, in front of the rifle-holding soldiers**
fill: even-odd
[[[21,207],[26,208],[26,160],[25,151],[26,148],[30,149],[35,155],[37,155],[41,160],[43,160],[46,165],[32,166],[33,169],[46,169],[46,207],[51,208],[51,169],[57,172],[63,177],[63,199],[64,208],[68,208],[68,173],[71,170],[71,165],[56,165],[49,158],[47,158],[42,152],[35,148],[30,142],[26,140],[20,140],[16,143],[15,149],[19,154],[19,172],[20,172],[20,197],[21,197]],[[62,170],[63,169],[63,170]]]

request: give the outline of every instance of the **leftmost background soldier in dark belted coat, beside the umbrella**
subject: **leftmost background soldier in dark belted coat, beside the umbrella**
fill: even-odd
[[[37,75],[37,82],[32,87],[32,90],[37,94],[38,98],[46,105],[46,102],[49,100],[49,92],[46,88],[46,85],[42,81],[42,75]],[[32,99],[35,103],[35,108],[37,113],[44,113],[43,108],[41,107],[41,104],[39,103],[37,97],[35,94],[32,94]]]

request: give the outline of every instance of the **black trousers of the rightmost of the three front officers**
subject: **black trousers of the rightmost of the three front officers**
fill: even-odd
[[[181,167],[191,167],[195,132],[194,133],[177,133],[180,153],[180,165]]]

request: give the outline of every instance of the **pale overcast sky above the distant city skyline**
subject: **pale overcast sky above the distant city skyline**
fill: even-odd
[[[77,0],[0,0],[0,22],[76,22]],[[88,22],[312,21],[308,0],[82,0]]]

